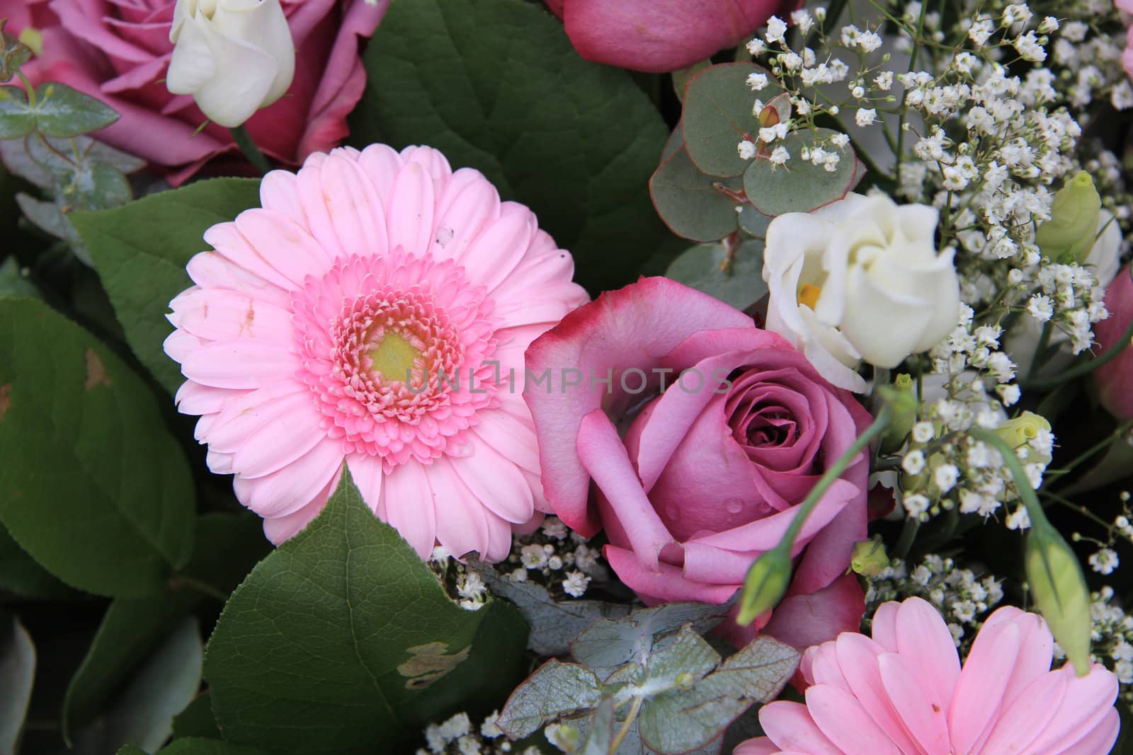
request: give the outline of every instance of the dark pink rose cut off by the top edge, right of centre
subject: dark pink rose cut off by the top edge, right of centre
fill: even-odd
[[[792,0],[546,0],[587,60],[662,74],[734,48]]]

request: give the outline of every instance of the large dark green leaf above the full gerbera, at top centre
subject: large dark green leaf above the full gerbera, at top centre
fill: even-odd
[[[629,282],[664,239],[646,191],[667,135],[661,115],[627,71],[579,58],[545,9],[394,2],[365,65],[352,143],[427,137],[453,168],[479,169],[573,252],[583,285]]]

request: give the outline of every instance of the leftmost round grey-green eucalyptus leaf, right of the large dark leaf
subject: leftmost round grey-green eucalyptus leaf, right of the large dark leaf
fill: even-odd
[[[678,148],[649,179],[653,205],[673,233],[691,241],[715,241],[735,230],[740,205],[725,194],[738,192],[739,179],[705,175]]]

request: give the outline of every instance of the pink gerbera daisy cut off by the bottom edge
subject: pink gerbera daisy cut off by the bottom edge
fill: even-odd
[[[1106,755],[1117,678],[1097,663],[1051,671],[1053,647],[1041,617],[1000,608],[961,668],[930,603],[884,603],[872,640],[845,632],[803,654],[806,705],[765,705],[767,736],[735,755]]]

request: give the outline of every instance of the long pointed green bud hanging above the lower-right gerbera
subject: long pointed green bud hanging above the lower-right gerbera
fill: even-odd
[[[1082,566],[1063,537],[1045,520],[1026,535],[1026,580],[1050,633],[1077,675],[1090,671],[1090,591]]]

